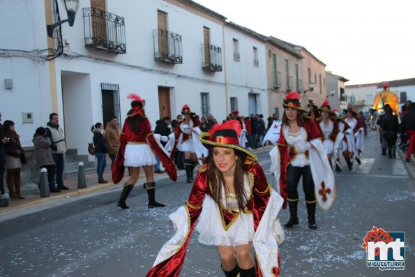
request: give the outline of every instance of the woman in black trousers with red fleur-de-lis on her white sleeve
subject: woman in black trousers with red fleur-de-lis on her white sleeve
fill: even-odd
[[[333,171],[322,144],[322,135],[315,121],[303,117],[300,95],[297,91],[287,94],[282,105],[282,126],[278,146],[271,151],[271,171],[280,184],[280,195],[284,197],[284,209],[289,206],[289,220],[285,227],[299,224],[297,186],[303,177],[303,190],[308,214],[308,227],[317,229],[315,207],[319,200],[322,209],[329,209],[334,200]],[[321,195],[320,195],[321,194]],[[317,199],[317,195],[318,197]],[[322,200],[322,203],[320,203]]]

